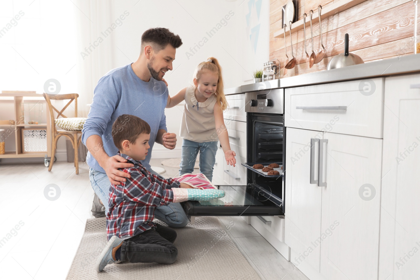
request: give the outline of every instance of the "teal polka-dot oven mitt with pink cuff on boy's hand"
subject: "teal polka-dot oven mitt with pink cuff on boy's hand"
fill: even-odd
[[[199,188],[171,188],[173,191],[173,201],[182,202],[187,200],[211,200],[211,199],[218,199],[225,196],[225,191],[207,188],[205,190],[201,190]]]

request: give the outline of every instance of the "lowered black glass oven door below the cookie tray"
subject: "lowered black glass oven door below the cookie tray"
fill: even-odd
[[[221,199],[181,202],[186,215],[194,216],[283,216],[283,205],[270,200],[270,191],[248,186],[217,186],[226,192]]]

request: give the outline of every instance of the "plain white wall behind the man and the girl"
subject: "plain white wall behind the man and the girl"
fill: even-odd
[[[130,16],[115,33],[117,54],[114,66],[136,60],[140,51],[140,38],[145,30],[151,27],[169,28],[173,33],[179,34],[183,42],[176,51],[173,71],[165,75],[170,95],[188,86],[192,82],[195,67],[209,56],[217,58],[222,65],[225,88],[251,83],[252,71],[262,68],[262,63],[269,59],[269,1],[166,0],[147,2],[147,6],[146,2],[139,1],[133,6],[136,2],[137,0],[115,1],[115,18],[125,10],[129,11]],[[259,17],[257,10],[260,11]],[[229,12],[234,13],[234,16],[223,21]],[[255,41],[256,34],[252,34],[253,41],[250,35],[252,29],[258,25],[259,34],[254,48],[251,42]],[[220,29],[210,37],[207,32],[213,27]],[[204,37],[207,42],[203,40]],[[195,51],[190,50],[199,43],[204,46],[196,47]],[[169,132],[179,134],[183,109],[183,105],[166,109]],[[178,137],[173,151],[156,144],[152,157],[180,157],[181,143],[182,139]]]

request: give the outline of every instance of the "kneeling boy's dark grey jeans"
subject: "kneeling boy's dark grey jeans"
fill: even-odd
[[[178,249],[173,245],[176,231],[163,225],[156,226],[156,229],[151,228],[123,241],[121,262],[175,262],[178,256]]]

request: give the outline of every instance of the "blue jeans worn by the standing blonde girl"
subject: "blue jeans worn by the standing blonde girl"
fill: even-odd
[[[198,152],[200,152],[200,172],[206,175],[207,179],[211,182],[213,178],[213,167],[216,162],[217,141],[198,143],[183,139],[179,175],[194,171],[194,164]]]

